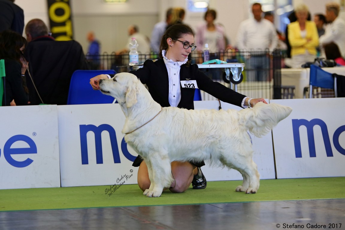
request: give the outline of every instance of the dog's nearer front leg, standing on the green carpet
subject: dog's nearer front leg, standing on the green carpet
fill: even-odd
[[[150,188],[145,190],[144,195],[147,197],[160,197],[165,187],[170,187],[172,181],[171,164],[168,158],[168,154],[150,153],[150,157],[147,161],[150,161],[150,168],[152,173],[149,172],[151,181]],[[149,168],[149,167],[148,167]]]

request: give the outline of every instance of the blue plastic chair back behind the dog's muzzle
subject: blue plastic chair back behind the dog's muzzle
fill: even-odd
[[[106,104],[114,98],[93,90],[90,79],[99,74],[116,74],[115,70],[76,70],[71,77],[67,104]]]

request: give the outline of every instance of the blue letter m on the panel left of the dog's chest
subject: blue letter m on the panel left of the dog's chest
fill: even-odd
[[[121,163],[119,148],[117,146],[116,133],[114,128],[109,124],[101,124],[100,126],[94,126],[93,124],[81,124],[79,126],[80,131],[80,147],[81,147],[81,163],[88,164],[88,149],[87,149],[87,133],[92,131],[95,134],[95,146],[96,146],[96,163],[103,163],[103,152],[102,152],[102,137],[101,133],[103,131],[108,131],[112,149],[112,156],[114,158],[114,163]]]

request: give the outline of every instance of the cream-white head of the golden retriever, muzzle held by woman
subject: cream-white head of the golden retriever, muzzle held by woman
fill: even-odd
[[[127,108],[134,106],[137,101],[137,87],[139,79],[131,73],[118,73],[113,78],[99,80],[102,93],[114,97],[119,103],[126,103]]]

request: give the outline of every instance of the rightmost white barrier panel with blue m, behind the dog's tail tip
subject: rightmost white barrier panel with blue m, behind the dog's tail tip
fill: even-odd
[[[277,178],[345,176],[345,98],[270,103],[293,108],[273,129]]]

